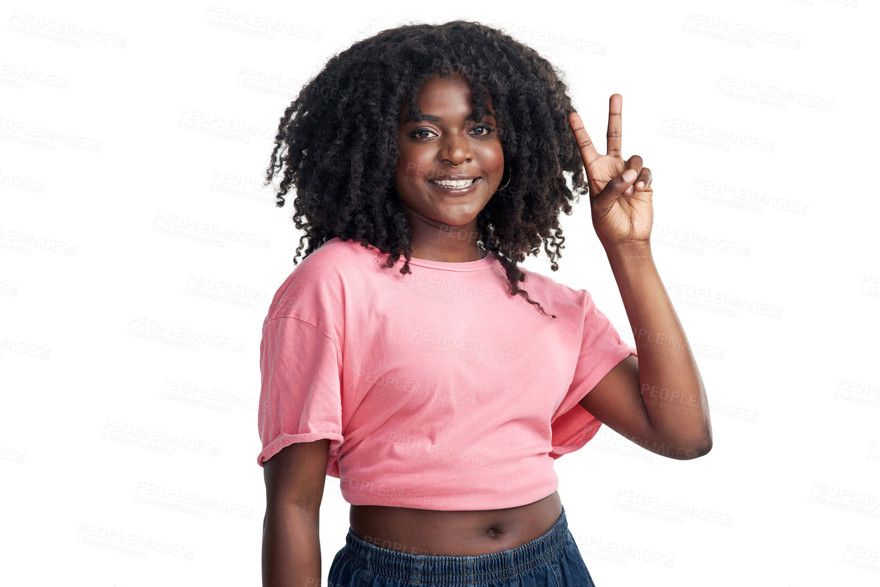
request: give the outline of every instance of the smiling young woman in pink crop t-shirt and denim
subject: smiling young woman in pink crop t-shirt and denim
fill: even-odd
[[[357,42],[284,113],[267,183],[283,168],[308,247],[260,345],[264,585],[321,584],[332,475],[351,504],[332,587],[590,586],[554,459],[602,423],[672,459],[711,448],[622,98],[599,155],[566,92],[532,48],[453,21]],[[543,246],[558,268],[566,172],[638,351],[588,291],[517,266]]]

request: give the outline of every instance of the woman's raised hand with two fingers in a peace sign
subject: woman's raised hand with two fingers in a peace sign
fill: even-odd
[[[598,154],[586,128],[583,128],[580,115],[576,112],[568,114],[568,124],[575,132],[583,165],[587,169],[593,228],[606,248],[628,243],[641,244],[640,241],[649,243],[654,222],[651,170],[642,167],[642,158],[638,155],[633,155],[627,161],[620,157],[622,106],[623,96],[612,94],[608,100],[608,152],[605,155]]]

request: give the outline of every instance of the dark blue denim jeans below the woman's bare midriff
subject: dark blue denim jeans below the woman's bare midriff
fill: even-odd
[[[399,553],[358,538],[351,528],[327,587],[596,587],[568,531],[565,508],[543,536],[479,556]]]

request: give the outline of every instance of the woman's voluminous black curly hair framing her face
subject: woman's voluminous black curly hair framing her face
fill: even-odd
[[[568,126],[574,112],[561,72],[534,49],[478,22],[414,24],[387,29],[334,55],[304,84],[284,111],[267,170],[269,185],[283,168],[275,205],[296,187],[293,222],[308,238],[304,256],[327,240],[355,240],[388,254],[385,268],[412,253],[407,214],[394,192],[400,108],[418,114],[422,83],[458,73],[473,91],[480,121],[491,97],[502,139],[508,183],[477,216],[479,242],[494,253],[510,280],[510,295],[522,295],[517,267],[539,246],[558,270],[565,238],[560,211],[586,194],[583,160]],[[563,172],[571,173],[568,188]],[[503,179],[502,179],[503,181]],[[502,184],[503,185],[503,184]],[[551,316],[555,318],[555,315]]]

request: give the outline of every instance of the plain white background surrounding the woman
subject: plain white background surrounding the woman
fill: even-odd
[[[0,12],[3,583],[260,584],[278,119],[354,40],[456,18],[558,65],[602,152],[623,95],[712,402],[704,458],[603,427],[557,461],[599,587],[880,583],[875,4],[77,4]],[[562,223],[560,271],[525,266],[632,343],[586,198]],[[347,529],[327,478],[325,577]]]

